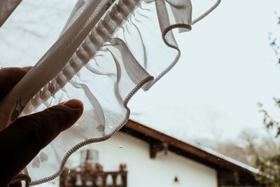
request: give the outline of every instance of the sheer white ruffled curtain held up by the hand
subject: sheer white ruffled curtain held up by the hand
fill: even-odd
[[[31,185],[55,179],[74,151],[120,130],[130,116],[131,97],[140,88],[151,88],[179,60],[172,29],[186,32],[191,25],[189,0],[78,1],[58,41],[7,96],[33,86],[15,100],[20,102],[18,111],[25,106],[21,115],[71,98],[84,104],[78,122],[24,169]],[[6,116],[12,121],[18,117],[13,118],[9,104],[1,102],[1,111],[6,109],[0,115],[2,123]]]

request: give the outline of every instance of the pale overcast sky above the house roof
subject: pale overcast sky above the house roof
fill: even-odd
[[[195,14],[205,5],[193,1]],[[279,7],[277,0],[225,0],[191,32],[176,34],[181,59],[134,97],[132,119],[180,139],[236,139],[244,128],[262,130],[257,102],[272,109],[272,97],[280,96],[268,40],[268,32],[280,36]]]

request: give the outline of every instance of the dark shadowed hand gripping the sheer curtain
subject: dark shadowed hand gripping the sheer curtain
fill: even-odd
[[[0,69],[0,102],[31,67]],[[1,111],[0,111],[1,112]],[[0,186],[10,180],[57,135],[71,127],[83,113],[77,99],[62,102],[44,111],[18,118],[0,132]],[[21,183],[10,186],[21,186]]]

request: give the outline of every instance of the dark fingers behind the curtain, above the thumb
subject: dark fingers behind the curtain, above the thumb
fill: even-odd
[[[0,69],[0,99],[3,99],[31,68],[7,67]]]

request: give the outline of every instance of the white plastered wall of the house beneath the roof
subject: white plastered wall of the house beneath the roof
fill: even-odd
[[[149,145],[130,135],[118,132],[111,139],[92,144],[99,151],[104,171],[118,171],[120,163],[127,164],[128,187],[190,186],[216,187],[217,173],[205,165],[181,155],[159,153],[149,157]],[[177,176],[179,182],[174,182]]]

